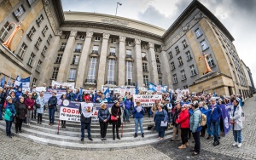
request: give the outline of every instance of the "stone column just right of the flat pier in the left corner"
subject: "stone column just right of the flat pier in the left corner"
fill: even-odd
[[[70,31],[67,45],[62,55],[61,66],[59,68],[57,77],[57,81],[60,83],[67,82],[67,67],[70,66],[70,60],[72,60],[71,53],[73,52],[73,45],[75,43],[75,37],[77,36],[77,33],[78,31]]]

